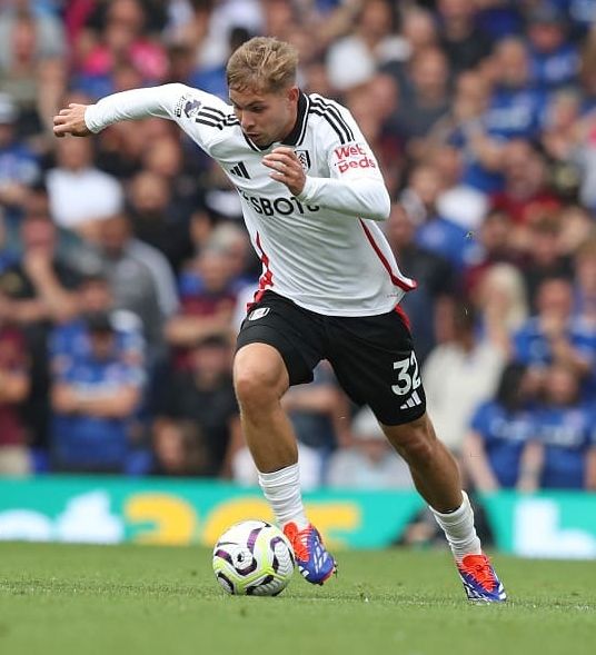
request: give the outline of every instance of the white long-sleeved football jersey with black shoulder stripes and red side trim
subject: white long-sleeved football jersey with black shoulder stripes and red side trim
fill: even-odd
[[[300,93],[295,129],[266,149],[242,132],[232,107],[185,85],[109,96],[88,108],[86,122],[97,132],[117,120],[148,115],[175,120],[237,188],[262,262],[258,292],[271,289],[328,316],[372,316],[390,311],[415,288],[400,274],[377,224],[387,218],[389,197],[377,160],[346,108]],[[308,176],[299,196],[271,179],[261,162],[279,145],[294,148]],[[355,189],[365,180],[372,192],[358,196]]]

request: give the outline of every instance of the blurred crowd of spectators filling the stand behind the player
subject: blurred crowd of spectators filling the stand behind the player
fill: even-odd
[[[428,408],[468,488],[596,488],[596,0],[3,0],[0,475],[254,484],[231,385],[260,275],[237,193],[168,121],[56,139],[52,116],[181,81],[227,98],[256,34],[345,103]],[[410,488],[322,363],[282,400],[305,488]]]

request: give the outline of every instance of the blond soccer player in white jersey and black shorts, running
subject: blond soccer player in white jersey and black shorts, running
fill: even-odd
[[[445,530],[468,597],[504,601],[456,463],[426,415],[399,307],[415,282],[397,268],[378,225],[390,202],[377,160],[349,111],[300,91],[297,63],[290,44],[254,38],[227,64],[231,107],[172,83],[69,105],[54,118],[54,133],[85,137],[120,120],[170,119],[236,186],[262,261],[238,336],[236,394],[260,486],[302,576],[322,584],[336,564],[305,515],[296,439],[280,399],[328,359],[342,388],[371,407],[408,463]]]

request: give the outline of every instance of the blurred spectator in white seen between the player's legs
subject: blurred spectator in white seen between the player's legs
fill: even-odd
[[[351,446],[331,455],[327,484],[351,489],[411,489],[407,464],[394,451],[372,410],[362,407],[351,423]]]

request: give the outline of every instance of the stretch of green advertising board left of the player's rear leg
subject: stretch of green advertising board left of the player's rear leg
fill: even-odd
[[[309,516],[335,547],[393,543],[423,507],[409,492],[321,492]],[[212,545],[231,524],[272,519],[260,489],[216,482],[107,477],[0,479],[0,538]]]

